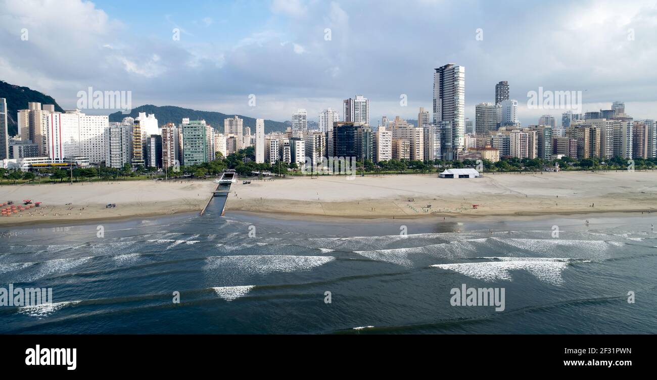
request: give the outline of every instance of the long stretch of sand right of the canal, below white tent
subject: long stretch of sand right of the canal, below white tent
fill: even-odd
[[[250,185],[238,181],[231,192],[227,214],[422,218],[647,212],[657,210],[657,172],[296,177]]]

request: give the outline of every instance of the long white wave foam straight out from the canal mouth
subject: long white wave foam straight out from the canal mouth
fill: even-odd
[[[210,256],[204,270],[268,274],[311,270],[335,260],[333,256]]]

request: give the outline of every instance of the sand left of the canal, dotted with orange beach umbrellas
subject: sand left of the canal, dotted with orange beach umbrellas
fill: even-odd
[[[18,206],[23,199],[32,199],[42,203],[38,208],[0,217],[0,226],[198,212],[215,187],[213,180],[5,185],[0,187],[1,202],[14,201]],[[116,208],[105,208],[108,203],[116,204]]]

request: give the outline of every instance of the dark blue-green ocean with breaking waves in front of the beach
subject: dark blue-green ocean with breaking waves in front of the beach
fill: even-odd
[[[0,306],[0,333],[657,333],[657,214],[311,221],[221,202],[1,228],[0,287],[53,303]],[[504,289],[504,310],[453,306],[462,287]]]

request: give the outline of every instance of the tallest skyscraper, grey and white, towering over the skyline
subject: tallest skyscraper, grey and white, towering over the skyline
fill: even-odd
[[[445,124],[445,123],[449,123]],[[442,144],[443,158],[455,160],[465,147],[465,68],[446,64],[434,72],[434,124],[449,133]]]

